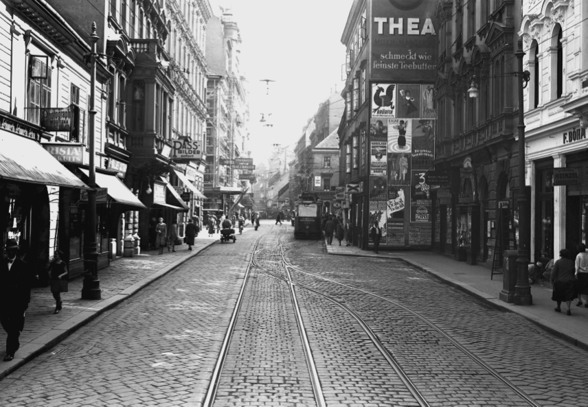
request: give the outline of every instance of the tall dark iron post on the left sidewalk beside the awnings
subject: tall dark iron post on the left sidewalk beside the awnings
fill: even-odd
[[[94,163],[96,146],[95,146],[95,117],[96,117],[96,43],[100,37],[96,34],[96,23],[92,23],[92,33],[89,37],[92,46],[90,54],[90,114],[88,124],[88,143],[90,147],[89,159],[89,187],[88,191],[88,226],[84,235],[84,268],[87,270],[84,275],[84,285],[82,287],[82,299],[95,300],[101,299],[100,279],[98,279],[98,241],[96,240],[96,167]]]

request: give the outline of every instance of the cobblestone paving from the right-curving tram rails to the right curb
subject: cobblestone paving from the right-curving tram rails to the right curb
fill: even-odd
[[[493,310],[402,261],[326,257],[322,242],[293,248],[286,258],[308,272],[405,305],[542,405],[588,405],[585,377],[573,373],[583,371],[588,353],[546,334],[525,318]],[[444,336],[402,308],[300,272],[293,272],[293,279],[334,296],[369,321],[431,405],[526,405]]]

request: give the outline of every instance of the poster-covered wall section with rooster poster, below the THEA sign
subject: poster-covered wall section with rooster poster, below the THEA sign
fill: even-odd
[[[370,224],[387,246],[431,244],[432,202],[425,180],[435,158],[432,84],[372,84]],[[406,209],[406,210],[405,210]]]

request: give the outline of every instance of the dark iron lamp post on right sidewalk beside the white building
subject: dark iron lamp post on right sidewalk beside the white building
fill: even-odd
[[[517,305],[531,305],[533,297],[529,285],[530,246],[531,246],[531,222],[530,202],[527,196],[525,177],[525,117],[523,107],[523,80],[527,81],[528,76],[523,72],[523,40],[519,39],[517,44],[518,74],[519,79],[519,253],[517,257],[517,285],[514,287],[514,303]]]

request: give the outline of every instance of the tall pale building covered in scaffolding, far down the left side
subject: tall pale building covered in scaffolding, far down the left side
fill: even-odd
[[[230,10],[220,9],[207,25],[207,167],[205,211],[227,214],[251,187],[238,159],[249,157],[247,81],[241,73],[238,24]],[[249,177],[251,178],[251,177]]]

